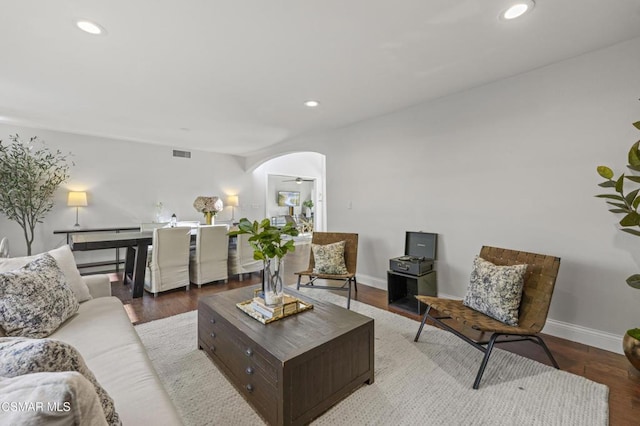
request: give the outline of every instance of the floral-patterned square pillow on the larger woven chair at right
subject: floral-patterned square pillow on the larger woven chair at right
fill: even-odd
[[[518,325],[527,265],[498,266],[476,256],[471,281],[462,302],[508,325]]]

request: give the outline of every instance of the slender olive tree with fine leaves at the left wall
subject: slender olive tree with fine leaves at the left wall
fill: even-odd
[[[69,178],[70,166],[67,155],[49,151],[37,136],[29,142],[18,135],[9,139],[10,145],[0,140],[0,213],[20,225],[31,255],[35,227],[53,207],[53,196]]]

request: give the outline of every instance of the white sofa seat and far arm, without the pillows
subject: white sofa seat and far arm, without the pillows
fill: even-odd
[[[81,279],[92,299],[81,302],[78,312],[49,338],[69,343],[80,352],[113,398],[123,425],[181,425],[122,302],[111,296],[108,276]]]

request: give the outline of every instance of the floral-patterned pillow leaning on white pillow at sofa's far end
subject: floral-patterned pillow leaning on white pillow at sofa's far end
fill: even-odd
[[[78,311],[56,260],[44,253],[0,273],[0,326],[7,336],[46,337]]]

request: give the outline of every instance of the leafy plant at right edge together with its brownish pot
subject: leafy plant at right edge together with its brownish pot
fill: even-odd
[[[634,127],[640,130],[640,121],[633,123]],[[640,141],[634,143],[629,150],[629,170],[640,172]],[[610,212],[623,214],[620,220],[620,230],[631,235],[640,237],[640,188],[627,189],[625,183],[640,183],[640,176],[625,175],[615,177],[613,170],[607,166],[598,166],[598,174],[606,180],[598,186],[602,188],[613,188],[615,194],[599,194],[596,197],[606,199]],[[627,278],[627,284],[635,289],[640,289],[640,274],[631,275]],[[627,330],[622,341],[622,347],[627,359],[638,370],[640,370],[640,328]]]

